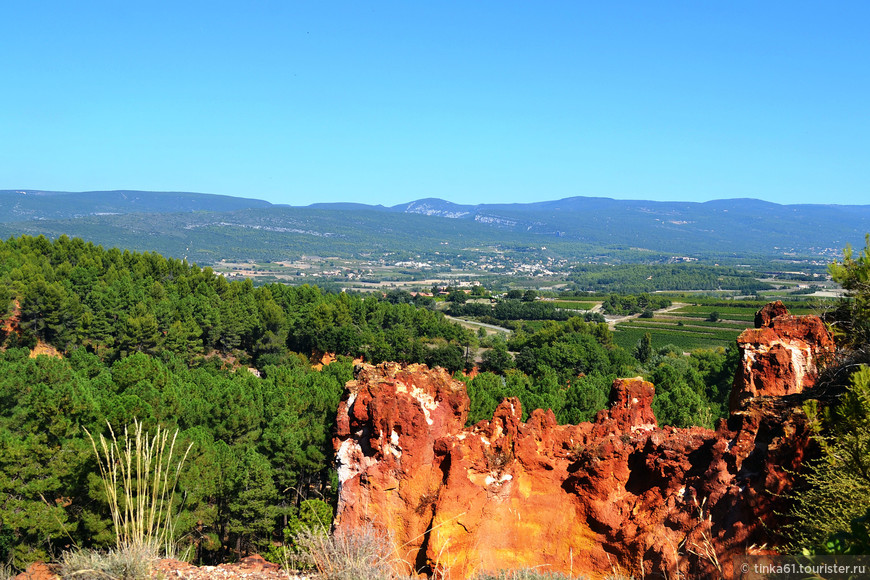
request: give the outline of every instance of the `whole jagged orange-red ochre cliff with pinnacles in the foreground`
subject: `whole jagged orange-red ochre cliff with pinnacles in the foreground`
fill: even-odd
[[[387,532],[405,570],[454,580],[538,567],[599,578],[732,577],[770,550],[783,492],[815,446],[798,394],[834,349],[818,317],[770,304],[741,334],[731,414],[715,431],[659,427],[655,389],[614,382],[594,421],[521,421],[518,399],[465,427],[441,368],[359,365],[338,409],[337,533]]]

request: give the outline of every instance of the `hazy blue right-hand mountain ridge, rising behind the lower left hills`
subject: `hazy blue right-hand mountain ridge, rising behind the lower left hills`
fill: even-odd
[[[330,204],[320,204],[329,209]],[[423,199],[372,210],[471,220],[500,229],[591,244],[691,252],[711,246],[762,253],[839,252],[863,245],[870,205],[780,205],[757,199],[703,203],[571,197],[515,204],[458,205]]]

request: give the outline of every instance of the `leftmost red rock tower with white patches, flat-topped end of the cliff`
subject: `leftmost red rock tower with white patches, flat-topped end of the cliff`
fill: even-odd
[[[339,518],[386,528],[413,568],[443,482],[437,440],[462,430],[465,386],[443,369],[359,365],[338,408]]]

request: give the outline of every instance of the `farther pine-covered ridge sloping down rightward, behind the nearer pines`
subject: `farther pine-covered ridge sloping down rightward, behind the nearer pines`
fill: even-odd
[[[61,351],[85,346],[104,360],[217,349],[262,366],[289,349],[405,361],[419,358],[424,342],[466,338],[460,326],[410,304],[311,286],[254,288],[185,261],[66,237],[3,243],[0,296],[0,312],[10,312],[13,297],[20,304],[21,340],[39,337]]]

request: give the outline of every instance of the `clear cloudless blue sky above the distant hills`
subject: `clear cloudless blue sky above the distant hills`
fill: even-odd
[[[5,2],[0,189],[870,203],[870,3]]]

